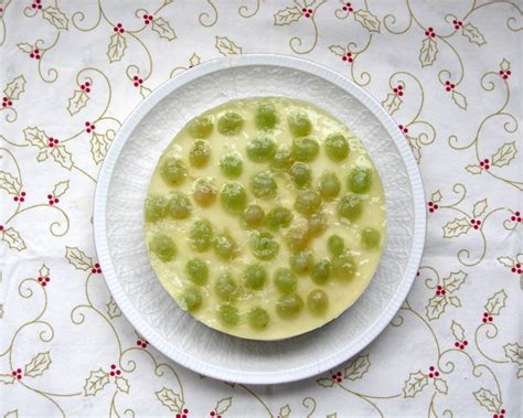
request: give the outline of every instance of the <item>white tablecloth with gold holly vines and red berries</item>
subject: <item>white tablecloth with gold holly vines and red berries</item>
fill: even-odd
[[[521,1],[0,0],[0,416],[521,416]],[[285,386],[194,374],[129,325],[92,206],[129,112],[205,60],[327,65],[393,115],[428,232],[399,313]]]

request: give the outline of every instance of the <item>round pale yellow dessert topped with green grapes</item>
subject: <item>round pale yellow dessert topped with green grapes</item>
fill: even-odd
[[[233,100],[162,153],[145,203],[158,278],[204,324],[279,340],[339,317],[385,239],[383,186],[339,120],[299,100]]]

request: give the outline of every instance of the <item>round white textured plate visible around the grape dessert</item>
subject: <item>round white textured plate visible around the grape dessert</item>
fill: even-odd
[[[256,342],[214,331],[163,290],[142,237],[143,200],[163,149],[194,116],[224,101],[286,96],[322,107],[369,150],[383,181],[388,238],[363,296],[329,324],[288,340]],[[175,362],[215,378],[274,384],[322,373],[365,347],[407,296],[425,243],[417,164],[394,120],[365,90],[312,62],[280,55],[211,61],[167,82],[126,120],[102,168],[94,205],[98,258],[114,299],[136,330]]]

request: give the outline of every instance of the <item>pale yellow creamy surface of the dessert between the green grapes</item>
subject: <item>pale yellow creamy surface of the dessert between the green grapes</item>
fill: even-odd
[[[252,234],[253,231],[244,226],[241,215],[230,214],[223,210],[220,195],[217,195],[216,201],[209,207],[200,206],[192,197],[194,183],[200,178],[212,178],[220,194],[222,184],[231,180],[223,175],[220,168],[220,159],[225,153],[237,152],[242,156],[244,164],[243,173],[234,180],[239,181],[245,186],[249,203],[259,204],[266,213],[276,205],[281,205],[292,211],[293,222],[300,218],[306,219],[306,216],[298,214],[293,208],[298,189],[292,184],[287,172],[274,172],[274,179],[278,185],[278,193],[274,199],[256,199],[249,186],[249,179],[253,174],[270,169],[269,163],[252,162],[246,154],[247,142],[256,138],[260,132],[255,124],[256,108],[260,101],[266,103],[267,100],[269,100],[277,110],[278,122],[274,129],[268,131],[268,135],[271,136],[278,144],[287,143],[290,146],[293,140],[287,122],[290,112],[300,109],[306,111],[309,116],[312,122],[310,136],[316,137],[320,143],[318,158],[312,162],[308,162],[313,175],[312,189],[317,189],[318,176],[324,170],[333,171],[341,182],[341,191],[338,197],[332,201],[322,202],[322,213],[327,216],[328,227],[319,237],[312,238],[308,246],[308,249],[313,251],[314,261],[323,257],[332,258],[332,255],[327,248],[327,240],[332,234],[337,234],[344,239],[345,248],[350,249],[350,254],[354,257],[357,266],[354,277],[350,280],[341,280],[331,277],[324,285],[316,285],[310,275],[297,276],[297,293],[301,296],[305,304],[300,312],[293,318],[280,318],[280,315],[278,315],[276,303],[281,298],[281,293],[275,287],[273,280],[273,274],[277,268],[289,267],[289,256],[292,251],[288,248],[284,239],[286,228],[279,232],[271,232],[279,243],[279,253],[276,258],[269,261],[263,261],[255,258],[248,244],[249,234]],[[216,128],[217,119],[226,111],[235,111],[243,117],[245,122],[238,135],[224,136],[218,132]],[[205,138],[211,146],[211,159],[209,163],[202,168],[191,167],[188,156],[194,139],[190,136],[185,127],[164,150],[149,186],[149,195],[151,196],[183,192],[190,196],[192,202],[191,215],[185,219],[174,219],[167,216],[156,222],[146,222],[145,224],[150,261],[162,286],[183,309],[184,303],[180,303],[180,294],[188,286],[193,286],[185,277],[185,264],[189,259],[194,257],[205,260],[210,271],[209,280],[205,285],[199,286],[203,294],[203,302],[196,310],[192,311],[191,314],[213,329],[247,339],[277,340],[289,337],[314,330],[340,315],[348,307],[354,303],[370,283],[377,267],[385,238],[386,214],[383,186],[361,142],[345,126],[318,107],[287,98],[250,98],[230,101],[206,111],[203,116],[210,117],[213,122],[212,133]],[[349,140],[351,149],[349,157],[339,163],[328,158],[323,146],[324,138],[334,132],[343,133]],[[160,174],[161,163],[169,157],[181,158],[188,168],[186,178],[175,186],[166,184]],[[371,189],[366,193],[361,194],[363,200],[361,216],[356,221],[351,222],[338,214],[337,205],[340,199],[349,193],[348,176],[355,167],[372,169],[373,180]],[[189,244],[189,231],[196,218],[209,219],[215,233],[226,232],[234,238],[238,245],[237,255],[234,259],[223,260],[217,257],[212,247],[204,253],[196,253],[191,248]],[[366,227],[372,227],[381,233],[381,244],[377,248],[363,248],[360,234],[361,231]],[[262,227],[260,231],[267,229]],[[160,233],[172,237],[177,246],[175,257],[167,262],[160,260],[159,257],[150,250],[151,239],[156,234]],[[249,290],[242,286],[243,271],[245,266],[249,264],[262,264],[268,272],[268,279],[262,290]],[[231,304],[238,310],[239,322],[232,326],[222,324],[217,317],[217,307],[223,303],[223,301],[216,296],[214,283],[218,275],[224,271],[230,271],[236,282],[241,285],[238,297],[231,302]],[[307,297],[310,291],[314,289],[321,289],[328,296],[328,309],[322,314],[313,314],[307,307]],[[252,328],[246,319],[247,312],[253,307],[262,307],[269,314],[269,322],[267,326],[262,330]]]

